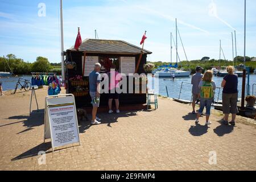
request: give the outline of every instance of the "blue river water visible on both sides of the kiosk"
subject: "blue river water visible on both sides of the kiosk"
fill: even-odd
[[[31,80],[30,75],[23,75],[19,76],[23,77],[24,79]],[[19,77],[2,77],[1,81],[3,82],[2,88],[3,90],[13,90],[15,88],[15,84],[18,81]],[[154,82],[157,78],[148,77],[148,82]],[[178,98],[180,93],[180,86],[181,82],[183,82],[183,88],[181,89],[180,98],[183,100],[191,100],[191,76],[184,77],[184,78],[175,78],[174,81],[172,80],[164,80],[166,78],[158,78],[159,82],[159,94],[161,96],[167,96],[166,86],[168,90],[168,96],[171,98]],[[214,77],[213,80],[216,83],[217,87],[221,87],[222,77]],[[247,77],[246,77],[246,84],[247,84]],[[250,75],[250,93],[256,95],[256,85],[254,85],[254,93],[253,92],[253,84],[256,84],[256,75]],[[154,84],[153,84],[154,85]],[[239,90],[239,97],[241,98],[241,90],[242,90],[242,78],[238,78],[238,90]],[[221,99],[221,92],[220,92],[220,100]],[[218,89],[216,90],[215,100],[218,97]]]

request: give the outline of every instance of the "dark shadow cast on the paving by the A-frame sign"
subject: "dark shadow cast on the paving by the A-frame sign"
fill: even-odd
[[[41,143],[38,146],[31,148],[30,150],[24,152],[23,154],[20,154],[16,156],[15,158],[11,159],[11,161],[24,159],[24,158],[30,158],[32,156],[37,156],[39,151],[47,151],[51,148],[51,142],[47,143]],[[48,151],[51,152],[51,151]],[[46,152],[46,153],[48,153]]]

